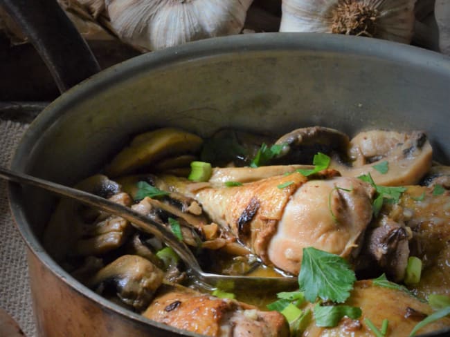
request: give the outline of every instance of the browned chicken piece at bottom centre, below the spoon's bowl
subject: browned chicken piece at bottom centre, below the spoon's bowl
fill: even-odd
[[[180,286],[161,286],[143,316],[206,336],[289,336],[287,322],[277,311],[260,311]]]

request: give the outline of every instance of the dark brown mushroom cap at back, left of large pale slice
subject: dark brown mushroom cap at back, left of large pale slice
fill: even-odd
[[[311,164],[316,153],[345,153],[348,135],[323,126],[298,128],[280,137],[275,144],[285,144],[272,161],[276,164]]]

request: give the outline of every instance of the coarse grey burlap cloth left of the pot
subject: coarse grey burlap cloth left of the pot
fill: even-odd
[[[27,127],[28,124],[0,119],[1,166],[9,167],[12,153]],[[36,335],[25,244],[12,220],[3,180],[0,180],[0,308],[17,321],[26,336]]]

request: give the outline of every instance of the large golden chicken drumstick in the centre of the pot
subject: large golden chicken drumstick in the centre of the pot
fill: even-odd
[[[190,189],[186,182],[175,187]],[[374,189],[352,177],[308,181],[292,173],[235,187],[203,185],[189,193],[213,222],[231,229],[266,264],[298,273],[306,247],[357,255],[372,218]]]

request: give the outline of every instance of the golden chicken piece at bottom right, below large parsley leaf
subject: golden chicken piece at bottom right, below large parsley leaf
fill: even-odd
[[[406,337],[420,320],[433,312],[429,305],[408,293],[373,285],[371,280],[356,282],[345,305],[361,308],[361,317],[357,320],[343,318],[339,325],[333,328],[316,327],[313,320],[305,329],[303,336],[372,337],[374,334],[364,322],[368,318],[379,329],[383,320],[387,319],[386,336]],[[442,318],[426,325],[417,334],[446,327],[450,327],[450,318]]]

